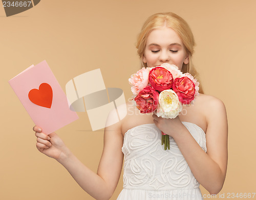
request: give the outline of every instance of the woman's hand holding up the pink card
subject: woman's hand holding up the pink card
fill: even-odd
[[[46,135],[37,126],[33,127],[33,131],[35,131],[35,136],[37,137],[36,147],[39,152],[56,160],[67,157],[68,149],[56,133]]]

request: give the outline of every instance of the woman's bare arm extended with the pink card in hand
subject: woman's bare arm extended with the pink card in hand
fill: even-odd
[[[34,131],[37,131],[37,127]],[[47,140],[48,136],[44,133],[36,133],[36,136],[39,138],[37,138],[38,150],[62,164],[84,191],[96,199],[109,199],[112,196],[119,181],[123,162],[120,122],[105,128],[104,147],[97,174],[61,144],[62,140],[57,134],[49,134],[50,140]]]

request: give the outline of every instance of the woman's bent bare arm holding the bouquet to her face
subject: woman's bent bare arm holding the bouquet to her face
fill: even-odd
[[[227,116],[225,106],[218,98],[212,98],[205,109],[207,153],[191,136],[179,117],[154,118],[158,128],[164,129],[164,133],[174,138],[197,181],[210,194],[217,194],[222,189],[227,169]]]

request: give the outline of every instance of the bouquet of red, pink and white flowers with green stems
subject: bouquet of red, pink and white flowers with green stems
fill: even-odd
[[[182,105],[190,105],[199,95],[199,82],[190,73],[182,73],[176,65],[163,63],[143,67],[129,79],[136,107],[141,113],[154,112],[158,117],[175,118]],[[169,135],[162,132],[162,145],[169,147]]]

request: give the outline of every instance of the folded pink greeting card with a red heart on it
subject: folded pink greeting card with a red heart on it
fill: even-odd
[[[78,119],[46,61],[28,67],[9,84],[42,132],[50,134]]]

